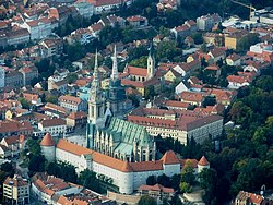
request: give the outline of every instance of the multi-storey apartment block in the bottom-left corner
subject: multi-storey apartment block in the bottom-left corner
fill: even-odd
[[[3,182],[3,201],[8,204],[28,204],[29,183],[22,177],[15,174],[14,178],[8,177]]]

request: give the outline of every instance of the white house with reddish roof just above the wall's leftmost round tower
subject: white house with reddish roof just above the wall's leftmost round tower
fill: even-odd
[[[38,123],[38,132],[35,135],[44,135],[50,133],[52,136],[63,136],[67,132],[67,122],[62,119],[47,119]]]

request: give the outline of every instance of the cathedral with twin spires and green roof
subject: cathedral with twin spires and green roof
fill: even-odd
[[[104,93],[96,53],[88,100],[87,148],[131,162],[155,160],[155,142],[146,129],[118,118],[124,113],[126,92],[118,77],[117,67],[115,48],[111,79]]]

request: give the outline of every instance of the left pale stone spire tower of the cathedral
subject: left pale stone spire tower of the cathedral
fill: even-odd
[[[98,77],[97,51],[95,57],[95,68],[88,100],[88,123],[98,126],[104,125],[105,98]]]

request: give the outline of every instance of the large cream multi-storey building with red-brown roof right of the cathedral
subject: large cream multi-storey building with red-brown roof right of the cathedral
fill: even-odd
[[[209,135],[215,138],[223,130],[223,117],[190,110],[139,108],[128,116],[128,121],[145,126],[153,136],[170,136],[182,144],[191,137],[197,143],[202,143]]]

